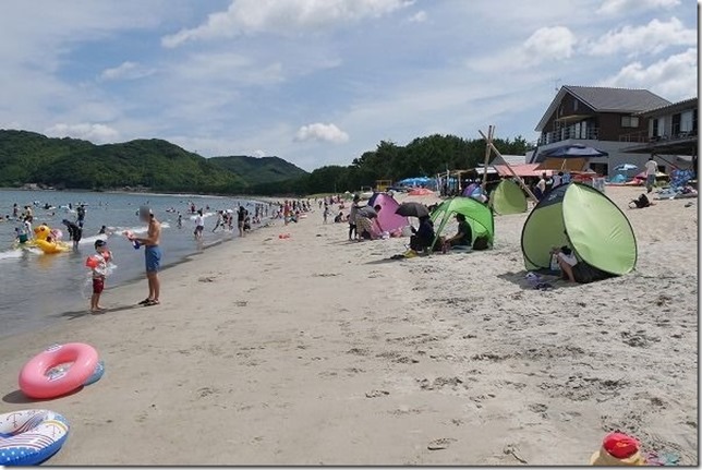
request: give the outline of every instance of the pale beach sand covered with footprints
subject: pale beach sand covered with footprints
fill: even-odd
[[[0,411],[64,414],[62,466],[583,465],[615,429],[697,465],[698,202],[628,209],[640,192],[607,188],[637,270],[550,291],[524,279],[526,214],[492,251],[402,261],[318,210],[278,221],[166,269],[159,306],[132,306],[140,281],[1,340]],[[68,341],[106,375],[25,399],[22,365]]]

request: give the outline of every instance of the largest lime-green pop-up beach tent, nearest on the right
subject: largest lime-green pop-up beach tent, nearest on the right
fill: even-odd
[[[591,280],[620,276],[637,265],[637,240],[629,219],[606,195],[589,185],[557,186],[536,204],[522,229],[526,269],[549,268],[552,248],[566,244],[578,260],[594,268]]]

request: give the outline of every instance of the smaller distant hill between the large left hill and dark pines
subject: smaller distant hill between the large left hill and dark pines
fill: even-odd
[[[247,157],[234,155],[231,157],[213,157],[209,159],[219,168],[240,176],[250,185],[274,183],[306,174],[302,168],[278,157]]]

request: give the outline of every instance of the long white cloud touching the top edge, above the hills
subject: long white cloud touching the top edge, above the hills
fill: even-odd
[[[197,39],[230,38],[255,33],[295,34],[379,17],[408,7],[413,0],[233,0],[204,24],[165,36],[161,44],[178,47]]]

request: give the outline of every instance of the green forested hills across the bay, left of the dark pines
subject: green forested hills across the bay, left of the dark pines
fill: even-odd
[[[0,186],[37,183],[57,189],[241,193],[254,184],[298,178],[282,159],[223,157],[217,164],[162,140],[95,145],[0,130]],[[239,167],[241,162],[241,167]],[[261,171],[258,171],[261,169]]]

